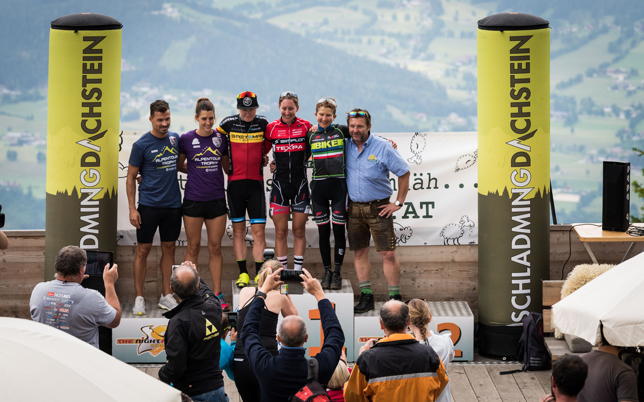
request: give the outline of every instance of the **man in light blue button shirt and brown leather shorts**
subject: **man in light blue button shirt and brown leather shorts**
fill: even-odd
[[[359,280],[360,301],[354,313],[374,309],[374,293],[369,274],[369,240],[374,236],[375,250],[383,259],[384,277],[389,284],[389,298],[402,300],[401,266],[396,258],[393,212],[403,206],[409,190],[410,170],[390,142],[371,135],[371,115],[365,109],[353,109],[346,116],[351,138],[346,144],[346,187],[349,195],[349,250],[355,251],[355,275]],[[393,194],[389,172],[398,176],[398,195]]]

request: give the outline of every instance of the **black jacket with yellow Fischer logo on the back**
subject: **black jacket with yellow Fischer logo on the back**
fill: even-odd
[[[222,305],[200,279],[199,294],[186,298],[164,313],[168,322],[164,343],[167,361],[159,379],[188,396],[223,387],[219,367],[222,333]]]

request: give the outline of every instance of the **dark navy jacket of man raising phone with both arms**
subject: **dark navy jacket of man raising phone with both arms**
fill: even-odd
[[[240,336],[243,338],[246,356],[260,383],[261,400],[286,402],[306,383],[307,349],[281,347],[279,356],[270,354],[260,338],[260,318],[264,306],[264,300],[260,297],[252,301]],[[340,360],[342,347],[345,344],[345,334],[331,302],[327,299],[320,300],[317,308],[324,331],[324,343],[321,351],[314,358],[319,363],[318,381],[326,384]]]

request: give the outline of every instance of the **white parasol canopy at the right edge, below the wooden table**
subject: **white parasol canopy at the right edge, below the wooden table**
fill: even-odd
[[[564,334],[596,345],[644,345],[644,253],[591,280],[553,306],[553,324]]]

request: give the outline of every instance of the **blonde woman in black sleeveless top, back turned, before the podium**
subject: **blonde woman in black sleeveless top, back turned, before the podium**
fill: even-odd
[[[264,262],[257,276],[257,289],[261,289],[261,286],[269,275],[279,270],[279,268],[284,268],[284,266],[278,260],[267,260]],[[243,402],[261,401],[260,383],[257,381],[257,377],[252,371],[251,363],[243,351],[243,323],[251,307],[251,301],[255,298],[255,291],[256,288],[251,288],[250,286],[246,286],[240,291],[240,308],[238,309],[237,317],[237,331],[242,336],[238,337],[237,343],[235,344],[233,375],[235,385]],[[283,317],[298,315],[298,309],[296,309],[289,295],[281,295],[276,289],[267,293],[265,303],[266,309],[261,315],[260,338],[264,347],[273,356],[277,356],[279,354],[276,338],[279,313]]]

